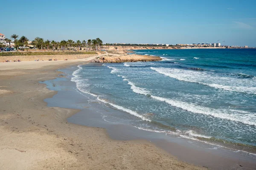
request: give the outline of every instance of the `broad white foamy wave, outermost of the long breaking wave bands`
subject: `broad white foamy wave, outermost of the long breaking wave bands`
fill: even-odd
[[[256,83],[253,79],[236,79],[232,77],[220,77],[218,75],[214,75],[208,72],[190,71],[177,68],[151,67],[151,69],[157,71],[160,74],[164,74],[168,77],[172,77],[180,81],[195,82],[202,85],[207,85],[212,88],[223,89],[227,91],[256,94]],[[251,87],[245,85],[251,85]]]

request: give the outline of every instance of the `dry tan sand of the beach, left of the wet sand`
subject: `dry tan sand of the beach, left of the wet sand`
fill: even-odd
[[[57,92],[38,81],[93,58],[0,64],[0,170],[205,169],[149,142],[115,141],[104,129],[68,123],[78,110],[47,107],[43,100]]]

